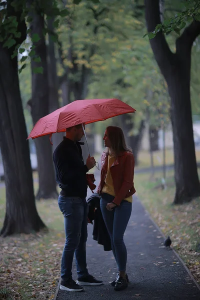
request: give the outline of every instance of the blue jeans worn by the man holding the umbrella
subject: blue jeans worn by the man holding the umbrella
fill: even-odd
[[[66,281],[72,275],[74,252],[78,277],[88,275],[85,251],[88,205],[85,198],[61,195],[58,197],[58,205],[64,216],[66,241],[61,259],[61,278]]]

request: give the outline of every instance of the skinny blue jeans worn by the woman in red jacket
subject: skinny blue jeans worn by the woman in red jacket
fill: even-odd
[[[100,209],[110,236],[112,252],[118,270],[125,271],[127,251],[123,241],[123,234],[131,215],[132,203],[122,200],[119,206],[116,206],[113,210],[109,211],[106,208],[106,204],[112,202],[113,199],[114,196],[102,193],[100,197]]]

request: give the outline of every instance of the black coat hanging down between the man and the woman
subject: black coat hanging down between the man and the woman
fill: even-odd
[[[88,219],[90,222],[93,221],[93,239],[97,240],[97,243],[103,245],[104,251],[110,251],[110,237],[100,210],[99,194],[94,192],[90,197],[88,197],[87,203],[89,207]]]

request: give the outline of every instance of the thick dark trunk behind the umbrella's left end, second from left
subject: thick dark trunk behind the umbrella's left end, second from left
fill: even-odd
[[[33,3],[32,0],[30,0]],[[35,9],[35,10],[34,10]],[[41,61],[35,62],[34,57],[31,59],[32,69],[32,99],[31,99],[31,116],[33,124],[48,114],[48,75],[46,60],[46,45],[43,36],[44,17],[36,12],[36,7],[32,8],[30,24],[31,35],[38,34],[40,39],[34,42],[35,55],[39,56]],[[35,73],[34,68],[42,66],[42,73]],[[56,181],[52,160],[52,149],[48,136],[35,138],[35,147],[37,153],[39,190],[36,198],[56,198]]]

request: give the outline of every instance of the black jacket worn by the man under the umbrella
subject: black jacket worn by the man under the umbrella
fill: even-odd
[[[64,137],[53,152],[53,161],[60,194],[85,198],[88,168],[82,159],[80,143]]]

